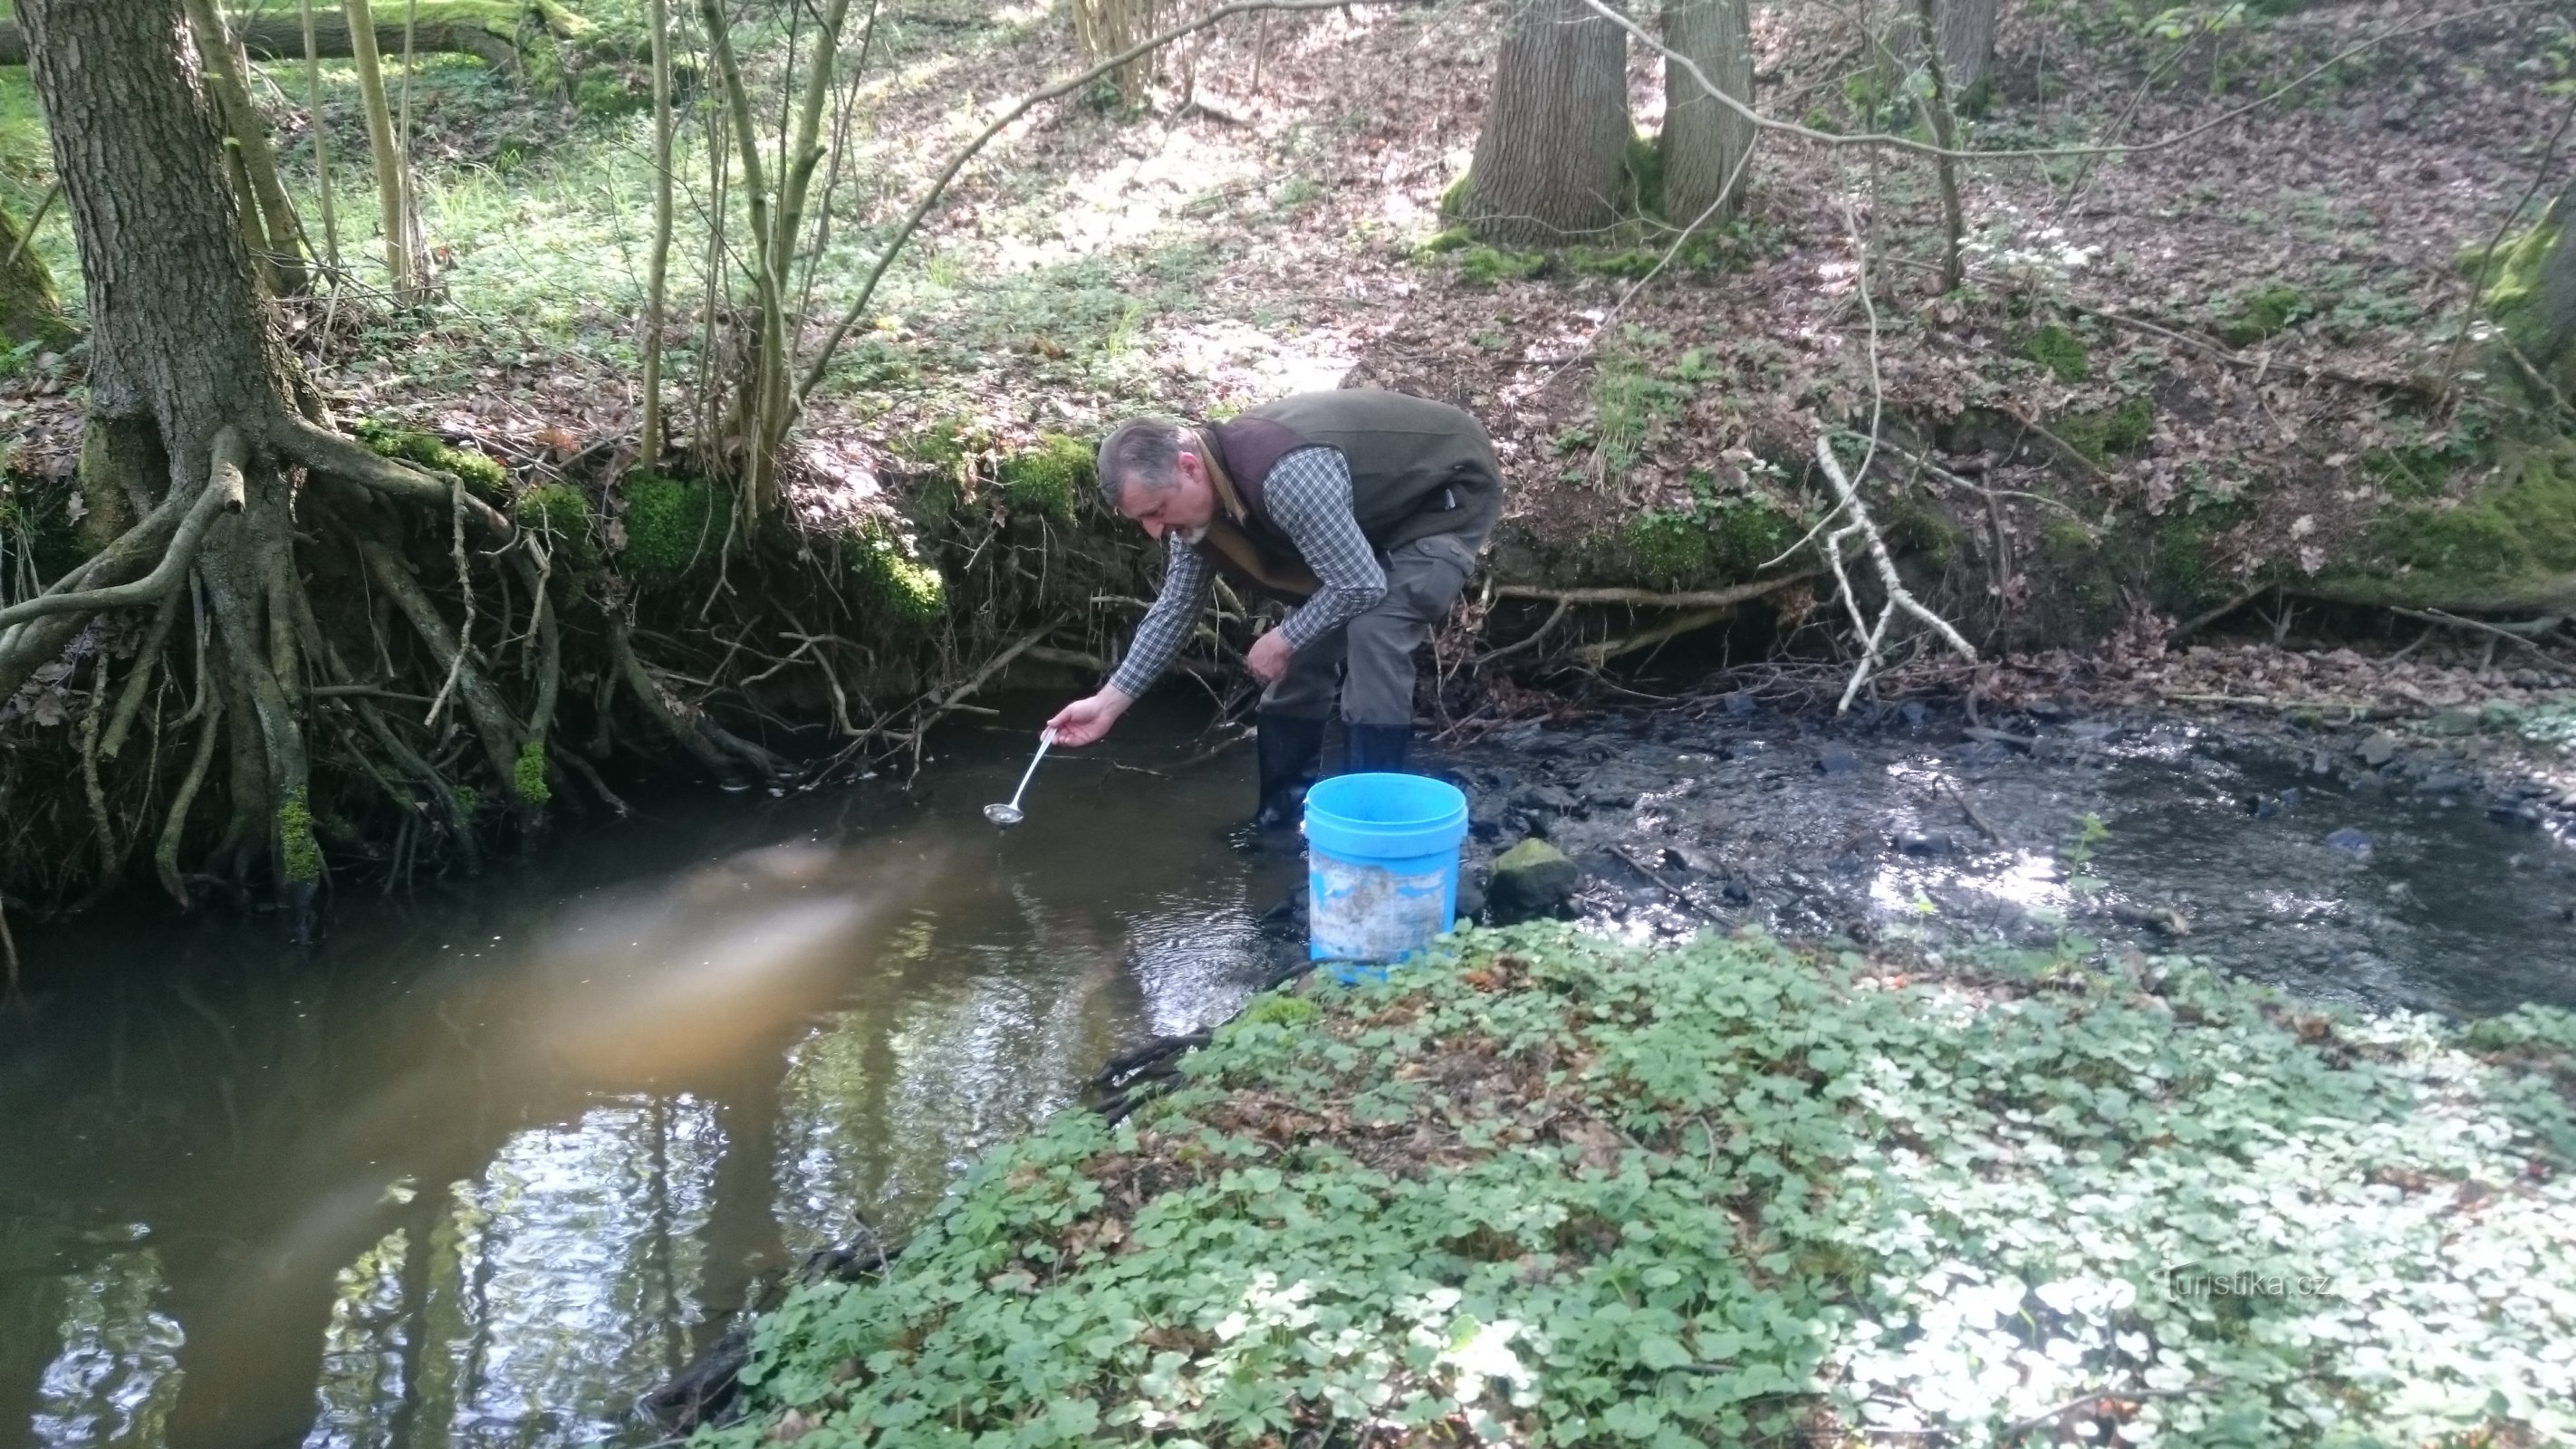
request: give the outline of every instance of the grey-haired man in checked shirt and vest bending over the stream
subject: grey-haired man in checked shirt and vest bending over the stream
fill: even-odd
[[[1255,824],[1298,818],[1334,690],[1347,767],[1404,767],[1414,649],[1502,515],[1502,466],[1473,417],[1368,389],[1296,394],[1213,427],[1139,417],[1100,443],[1100,497],[1170,558],[1118,672],[1048,721],[1059,741],[1090,744],[1118,723],[1180,654],[1221,574],[1296,605],[1247,654],[1267,685]]]

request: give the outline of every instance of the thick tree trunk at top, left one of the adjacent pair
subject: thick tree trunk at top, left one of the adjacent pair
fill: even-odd
[[[1494,57],[1466,219],[1479,237],[1546,245],[1620,216],[1628,36],[1584,0],[1528,0]]]

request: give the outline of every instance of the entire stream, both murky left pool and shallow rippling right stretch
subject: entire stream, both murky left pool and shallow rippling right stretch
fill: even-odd
[[[1051,754],[997,831],[1033,705],[951,731],[912,793],[667,793],[446,893],[353,891],[309,957],[144,906],[21,927],[46,975],[0,1006],[0,1441],[649,1441],[634,1398],[757,1274],[899,1228],[1118,1048],[1273,970],[1257,916],[1301,867],[1226,844],[1249,749],[1121,770],[1195,749],[1193,718],[1139,710],[1115,762]],[[1940,945],[2120,934],[2089,903],[2123,898],[2321,996],[2576,1001],[2555,826],[2187,726],[2050,736],[1747,713],[1453,764],[1479,854],[1546,829],[1631,924],[1682,924],[1672,885]],[[2084,813],[2107,836],[2069,865]]]

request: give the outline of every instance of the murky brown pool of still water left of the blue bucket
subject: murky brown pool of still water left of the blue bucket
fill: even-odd
[[[448,906],[343,903],[309,963],[85,924],[98,968],[0,1017],[0,1423],[652,1439],[629,1405],[752,1274],[899,1230],[1115,1048],[1262,975],[1252,911],[1285,883],[1221,844],[1239,780],[1051,762],[997,836],[971,803],[1020,744],[951,762],[953,811],[675,808]]]

